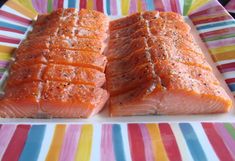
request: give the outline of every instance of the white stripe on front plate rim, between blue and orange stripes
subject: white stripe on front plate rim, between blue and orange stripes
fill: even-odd
[[[54,130],[55,130],[55,124],[47,124],[46,125],[46,130],[43,138],[43,142],[41,145],[41,150],[38,155],[38,161],[46,160],[47,153],[50,149],[50,145],[53,139],[54,135]]]

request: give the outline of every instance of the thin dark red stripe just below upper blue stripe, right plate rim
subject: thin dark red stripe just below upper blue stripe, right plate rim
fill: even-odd
[[[200,36],[203,38],[208,38],[208,37],[214,37],[214,36],[219,36],[222,34],[230,34],[234,33],[235,27],[230,27],[230,28],[225,28],[225,29],[220,29],[220,30],[215,30],[215,31],[210,31],[210,32],[205,32],[201,33]]]

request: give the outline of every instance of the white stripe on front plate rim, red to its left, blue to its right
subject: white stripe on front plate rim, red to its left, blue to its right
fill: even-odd
[[[182,160],[183,161],[190,161],[193,160],[192,155],[189,151],[189,148],[187,146],[187,143],[184,139],[184,136],[180,130],[179,124],[178,123],[172,123],[170,124],[171,129],[173,131],[173,134],[175,136],[177,145],[179,147],[180,150],[180,154],[182,156]]]

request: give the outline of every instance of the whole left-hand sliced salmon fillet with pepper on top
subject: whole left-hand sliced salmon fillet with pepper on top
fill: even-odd
[[[109,98],[108,18],[97,11],[59,9],[41,15],[15,52],[0,117],[87,118]]]

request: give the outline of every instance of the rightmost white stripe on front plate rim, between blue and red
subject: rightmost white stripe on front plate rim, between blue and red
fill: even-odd
[[[210,142],[209,142],[209,140],[203,130],[201,123],[198,123],[198,122],[191,123],[191,126],[193,127],[193,130],[198,137],[198,141],[200,142],[201,147],[202,147],[208,161],[219,161],[219,158],[215,154],[215,151],[213,150],[213,147],[211,146],[211,144],[210,144]]]

